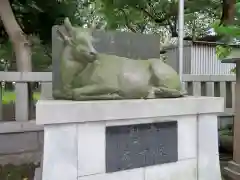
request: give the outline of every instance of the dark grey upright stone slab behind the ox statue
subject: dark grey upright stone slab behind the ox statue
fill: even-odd
[[[61,87],[59,74],[60,53],[63,49],[63,42],[58,37],[57,28],[64,31],[63,26],[54,26],[52,28],[53,89]],[[114,54],[133,59],[160,57],[160,38],[157,35],[95,30],[93,31],[93,37],[97,40],[94,47],[99,53]]]

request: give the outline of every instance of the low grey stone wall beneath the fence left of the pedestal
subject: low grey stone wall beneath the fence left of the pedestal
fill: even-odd
[[[0,133],[0,164],[39,163],[43,132]]]

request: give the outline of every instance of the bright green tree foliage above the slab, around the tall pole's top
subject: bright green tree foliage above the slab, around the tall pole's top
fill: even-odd
[[[104,14],[107,28],[126,26],[133,32],[147,32],[151,27],[167,27],[172,37],[178,36],[178,1],[176,0],[101,0],[101,13]],[[215,0],[185,1],[185,24],[187,35],[193,36],[196,27],[206,33],[209,24],[220,18],[221,4]],[[114,13],[112,13],[114,12]],[[204,21],[203,21],[204,20]],[[206,23],[206,21],[209,21]]]

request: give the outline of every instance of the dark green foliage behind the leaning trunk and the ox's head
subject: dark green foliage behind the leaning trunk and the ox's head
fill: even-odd
[[[44,70],[51,64],[52,26],[69,17],[73,24],[86,23],[87,1],[82,0],[11,0],[16,19],[32,43],[33,70]],[[0,70],[15,69],[14,53],[0,21]]]

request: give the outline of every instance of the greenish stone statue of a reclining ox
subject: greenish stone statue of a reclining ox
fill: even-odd
[[[161,59],[133,60],[98,53],[89,29],[73,27],[68,18],[61,54],[61,89],[54,99],[113,100],[177,98],[185,95],[177,72]]]

